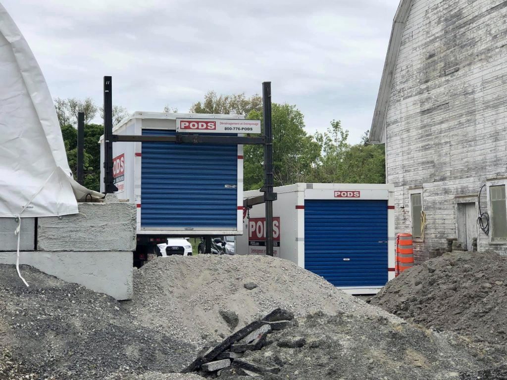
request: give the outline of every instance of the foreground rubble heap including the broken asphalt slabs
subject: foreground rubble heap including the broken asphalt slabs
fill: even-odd
[[[277,320],[281,312],[274,311]],[[276,330],[267,318],[252,322],[203,348],[184,372],[224,379],[457,380],[463,371],[478,373],[497,359],[456,334],[441,335],[403,320],[320,312],[284,322],[290,323]]]

